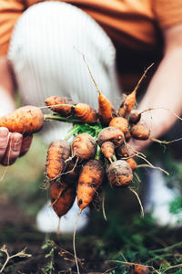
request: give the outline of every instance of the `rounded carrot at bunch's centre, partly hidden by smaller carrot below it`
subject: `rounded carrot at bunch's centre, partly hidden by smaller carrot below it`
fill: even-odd
[[[118,147],[122,142],[124,142],[124,134],[115,127],[107,127],[99,132],[97,142],[101,147],[103,142],[107,141],[113,142],[115,147]]]

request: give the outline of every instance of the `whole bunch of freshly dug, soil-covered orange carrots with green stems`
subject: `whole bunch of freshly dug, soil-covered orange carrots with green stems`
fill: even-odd
[[[128,141],[131,137],[147,140],[150,135],[147,127],[140,123],[141,113],[136,110],[140,81],[118,110],[96,86],[98,111],[86,103],[51,96],[45,100],[52,111],[50,114],[44,115],[41,108],[25,106],[0,118],[0,127],[24,135],[40,131],[45,121],[73,123],[66,138],[52,142],[47,152],[46,177],[57,216],[66,214],[76,196],[81,214],[104,182],[116,187],[132,182],[137,167],[133,158],[136,152]]]

